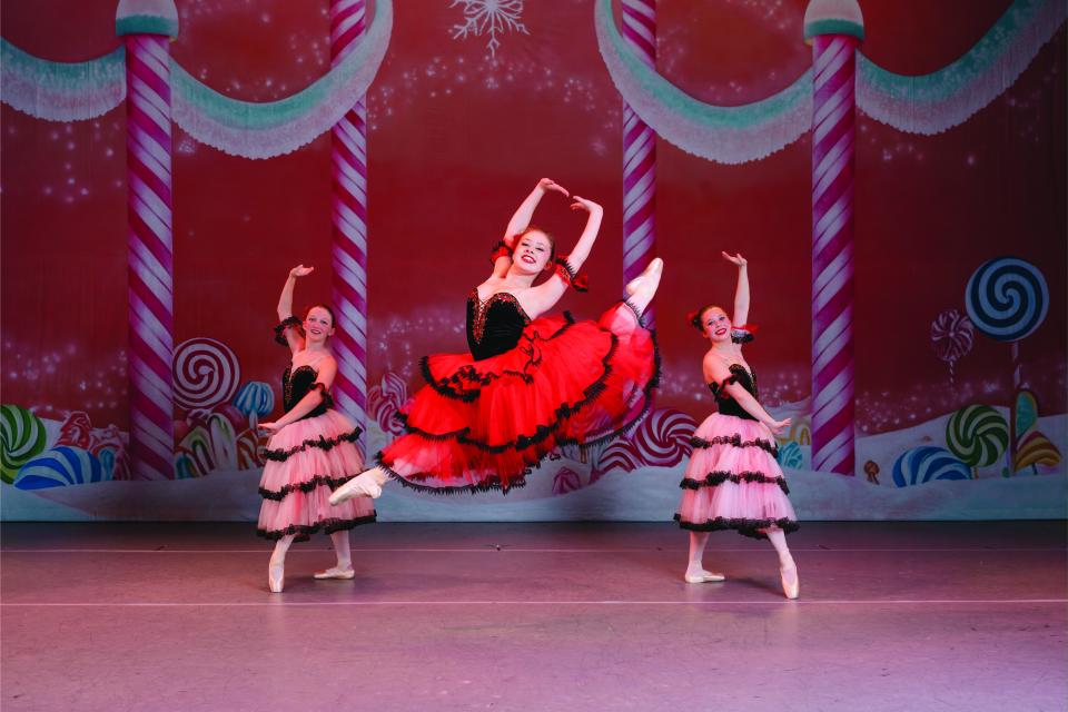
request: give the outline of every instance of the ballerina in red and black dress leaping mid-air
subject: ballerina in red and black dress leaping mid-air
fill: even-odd
[[[568,196],[547,178],[537,184],[494,250],[490,278],[467,298],[471,353],[423,359],[427,385],[402,408],[405,434],[330,502],[377,497],[390,477],[436,493],[507,493],[557,446],[611,438],[642,416],[659,360],[640,317],[663,263],[653,260],[597,322],[542,316],[568,286],[585,290],[578,270],[603,214],[575,196],[571,207],[587,214],[586,226],[571,255],[556,257],[553,238],[530,225],[546,192]]]

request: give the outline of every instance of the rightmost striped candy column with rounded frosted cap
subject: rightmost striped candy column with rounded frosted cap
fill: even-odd
[[[863,24],[852,0],[815,0],[804,21],[814,65],[812,468],[853,475],[854,71]]]

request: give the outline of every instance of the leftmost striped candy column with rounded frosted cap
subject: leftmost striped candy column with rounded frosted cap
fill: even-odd
[[[123,0],[116,32],[126,42],[131,473],[169,479],[175,291],[168,44],[178,33],[178,13],[170,0]]]

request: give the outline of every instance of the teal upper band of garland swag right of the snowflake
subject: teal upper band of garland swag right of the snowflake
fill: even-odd
[[[795,110],[812,93],[812,70],[767,99],[736,107],[721,107],[699,101],[643,63],[626,46],[612,19],[612,0],[599,0],[596,21],[609,37],[616,59],[641,88],[673,112],[710,129],[752,129]]]

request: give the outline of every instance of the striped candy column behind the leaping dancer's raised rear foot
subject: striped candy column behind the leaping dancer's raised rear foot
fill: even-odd
[[[656,66],[656,1],[623,0],[623,37],[635,55]],[[656,135],[623,102],[623,284],[652,261],[656,208]],[[655,326],[653,307],[645,323]]]

